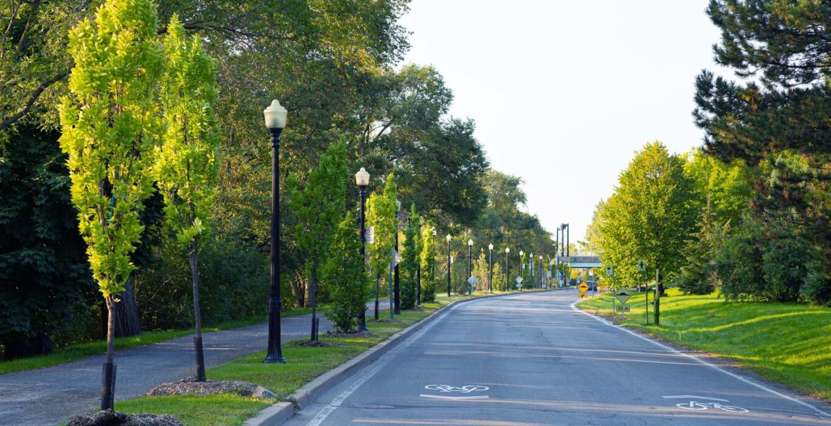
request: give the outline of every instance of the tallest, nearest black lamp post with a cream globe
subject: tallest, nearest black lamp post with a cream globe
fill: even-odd
[[[271,296],[268,298],[268,355],[265,363],[286,362],[280,347],[280,134],[286,128],[288,111],[278,100],[263,110],[265,126],[271,132]]]

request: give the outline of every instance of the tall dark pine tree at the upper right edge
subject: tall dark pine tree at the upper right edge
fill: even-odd
[[[740,159],[754,170],[755,219],[785,226],[819,247],[809,298],[831,303],[824,281],[831,259],[831,23],[827,2],[712,0],[720,29],[715,61],[740,81],[702,71],[696,79],[696,125],[707,154]],[[821,290],[823,287],[826,290]],[[815,296],[814,296],[815,295]]]

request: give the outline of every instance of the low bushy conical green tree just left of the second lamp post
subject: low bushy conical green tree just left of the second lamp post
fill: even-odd
[[[337,331],[351,331],[356,318],[366,311],[369,277],[360,251],[361,237],[355,233],[355,218],[347,213],[335,231],[322,267],[322,285],[332,299],[332,308],[325,315]]]

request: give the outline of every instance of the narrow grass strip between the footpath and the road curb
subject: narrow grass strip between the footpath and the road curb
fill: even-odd
[[[474,295],[484,296],[484,294]],[[283,356],[287,364],[263,364],[265,350],[246,355],[228,364],[209,369],[210,379],[245,380],[260,384],[284,399],[293,394],[303,384],[315,377],[332,370],[347,360],[361,354],[391,335],[421,321],[442,306],[469,296],[441,297],[435,302],[425,303],[418,311],[402,311],[396,316],[400,322],[367,321],[366,326],[375,337],[349,337],[327,339],[322,341],[338,343],[338,347],[295,346],[291,342],[283,344]],[[381,319],[388,316],[381,316]],[[245,419],[257,414],[268,406],[268,402],[246,399],[232,395],[202,396],[164,396],[141,397],[117,402],[116,409],[125,413],[171,414],[185,425],[230,425],[242,424]]]

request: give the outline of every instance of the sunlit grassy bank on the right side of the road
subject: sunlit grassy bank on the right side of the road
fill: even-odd
[[[644,325],[644,295],[634,293],[623,326],[725,356],[768,379],[831,401],[831,309],[804,303],[728,302],[716,295],[661,297],[661,326]],[[649,298],[652,301],[652,295]],[[578,307],[612,316],[610,293]],[[620,314],[614,316],[620,322]]]

